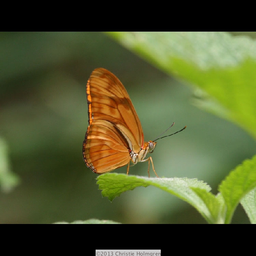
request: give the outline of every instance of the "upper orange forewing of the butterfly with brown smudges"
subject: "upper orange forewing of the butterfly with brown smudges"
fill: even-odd
[[[104,68],[95,69],[88,81],[94,120],[108,120],[127,128],[137,145],[142,145],[143,132],[130,97],[120,80]]]

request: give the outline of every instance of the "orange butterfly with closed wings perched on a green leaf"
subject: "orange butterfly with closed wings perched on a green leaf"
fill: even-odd
[[[140,120],[120,80],[110,71],[96,68],[87,82],[86,94],[89,116],[83,142],[86,166],[102,174],[128,164],[128,174],[130,161],[133,164],[148,161],[148,176],[150,162],[156,174],[151,156],[144,159],[148,152],[153,152],[156,142],[144,142]]]

